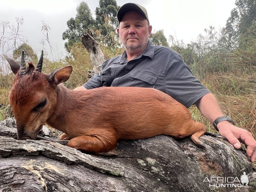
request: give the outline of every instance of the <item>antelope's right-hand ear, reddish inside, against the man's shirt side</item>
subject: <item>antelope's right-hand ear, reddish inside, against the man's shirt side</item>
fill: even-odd
[[[73,67],[71,65],[55,69],[52,71],[52,73],[47,75],[47,79],[55,87],[58,84],[66,82],[69,79],[72,71]]]

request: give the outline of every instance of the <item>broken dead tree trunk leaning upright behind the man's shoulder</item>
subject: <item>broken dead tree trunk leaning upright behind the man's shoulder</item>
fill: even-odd
[[[104,54],[89,29],[83,34],[81,42],[90,54],[93,70],[89,70],[87,76],[91,78],[93,75],[100,73],[101,64],[105,61]]]

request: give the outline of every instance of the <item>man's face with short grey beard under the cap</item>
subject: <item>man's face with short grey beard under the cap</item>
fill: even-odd
[[[151,30],[148,20],[138,12],[130,11],[124,14],[117,33],[125,50],[140,52],[146,48]]]

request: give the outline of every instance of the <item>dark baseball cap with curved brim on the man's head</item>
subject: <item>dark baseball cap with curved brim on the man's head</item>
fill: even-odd
[[[126,3],[117,12],[117,20],[120,23],[124,14],[129,11],[137,11],[148,20],[148,12],[145,7],[136,3]],[[149,20],[148,20],[149,22]]]

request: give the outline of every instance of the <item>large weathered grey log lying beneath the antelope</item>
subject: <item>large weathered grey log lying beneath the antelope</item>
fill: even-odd
[[[15,127],[14,123],[11,126]],[[50,141],[43,137],[39,137],[41,140],[17,140],[16,137],[15,128],[0,125],[0,191],[256,189],[255,164],[249,162],[243,149],[233,148],[214,133],[201,137],[208,150],[198,148],[189,138],[174,140],[166,135],[120,140],[116,157],[85,154],[67,147],[67,141]],[[249,183],[241,187],[243,172],[249,174]],[[218,187],[221,183],[225,187]]]

